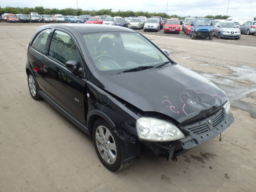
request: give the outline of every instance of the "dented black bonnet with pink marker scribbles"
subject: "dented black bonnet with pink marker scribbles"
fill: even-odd
[[[179,65],[98,76],[102,89],[144,112],[158,112],[182,123],[204,118],[228,99],[206,78]]]

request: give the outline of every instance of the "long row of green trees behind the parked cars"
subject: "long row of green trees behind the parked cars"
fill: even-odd
[[[168,15],[166,13],[149,13],[149,12],[143,12],[143,11],[121,11],[118,10],[116,12],[112,11],[112,9],[101,9],[101,10],[82,10],[82,9],[73,9],[73,8],[65,8],[65,9],[56,9],[56,8],[44,8],[42,6],[36,6],[34,8],[28,8],[28,7],[0,7],[0,13],[12,13],[12,14],[30,14],[31,12],[37,12],[38,14],[47,14],[47,15],[54,15],[54,14],[62,14],[62,15],[73,15],[73,16],[79,16],[79,15],[110,15],[112,17],[114,16],[120,16],[120,17],[138,17],[138,16],[146,16],[147,18],[150,18],[151,16],[160,16],[162,18],[179,18],[184,19],[186,17],[194,17],[194,18],[200,18],[197,16],[186,16],[186,17],[180,17],[176,14],[174,15]],[[207,15],[204,18],[214,18],[214,19],[227,19],[230,16],[222,16],[222,15]],[[254,18],[256,19],[256,18]]]

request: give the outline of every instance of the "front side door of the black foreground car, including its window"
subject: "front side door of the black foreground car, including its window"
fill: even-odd
[[[77,62],[82,74],[77,75],[68,70],[66,68],[68,61]],[[86,78],[74,36],[64,30],[54,30],[44,71],[48,96],[66,112],[85,124]]]

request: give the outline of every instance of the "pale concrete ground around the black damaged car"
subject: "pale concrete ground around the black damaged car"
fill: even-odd
[[[177,162],[142,150],[132,166],[110,172],[86,134],[31,98],[25,64],[36,28],[0,25],[0,192],[255,191],[256,47],[146,34],[175,62],[223,88],[235,122],[221,142],[216,137]]]

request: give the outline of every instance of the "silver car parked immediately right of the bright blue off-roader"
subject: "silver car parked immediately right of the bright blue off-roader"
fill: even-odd
[[[213,36],[217,36],[219,39],[222,37],[240,39],[241,32],[234,22],[220,21],[214,26]]]

